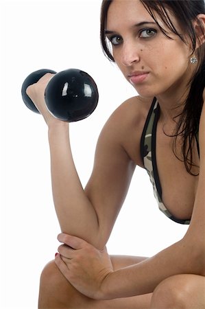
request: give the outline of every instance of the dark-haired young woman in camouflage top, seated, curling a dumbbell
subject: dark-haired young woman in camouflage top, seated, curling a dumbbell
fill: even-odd
[[[138,96],[104,126],[85,189],[69,124],[45,108],[51,75],[27,89],[48,126],[63,232],[60,254],[41,275],[39,308],[205,308],[204,32],[204,0],[103,1],[104,52]],[[152,258],[109,256],[106,242],[136,165],[147,170],[160,209],[189,229]]]

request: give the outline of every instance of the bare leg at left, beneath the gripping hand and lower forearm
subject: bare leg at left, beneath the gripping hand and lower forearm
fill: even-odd
[[[136,264],[145,258],[111,256],[114,269]],[[152,294],[109,301],[90,299],[73,288],[52,261],[45,266],[40,278],[39,309],[143,309],[149,308]]]

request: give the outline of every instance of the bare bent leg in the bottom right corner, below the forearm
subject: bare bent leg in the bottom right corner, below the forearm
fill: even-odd
[[[173,275],[154,290],[151,308],[205,308],[205,277],[201,275]]]

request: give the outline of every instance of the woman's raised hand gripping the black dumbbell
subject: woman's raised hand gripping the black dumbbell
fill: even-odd
[[[55,74],[52,73],[46,73],[42,78],[38,80],[38,82],[31,84],[26,89],[27,95],[35,104],[40,114],[43,115],[47,125],[49,125],[50,122],[62,122],[61,120],[56,119],[56,117],[53,117],[51,113],[49,113],[47,106],[45,104],[45,89],[47,87],[47,84],[49,83],[51,78],[53,78],[54,75]]]

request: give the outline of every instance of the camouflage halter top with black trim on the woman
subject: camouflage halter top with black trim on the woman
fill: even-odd
[[[181,220],[174,217],[162,202],[162,187],[158,176],[156,165],[156,126],[160,116],[160,106],[156,98],[154,98],[141,137],[141,158],[143,160],[145,170],[149,174],[152,183],[154,196],[158,202],[159,209],[171,220],[182,225],[189,225],[191,219]],[[198,144],[198,142],[197,142]]]

